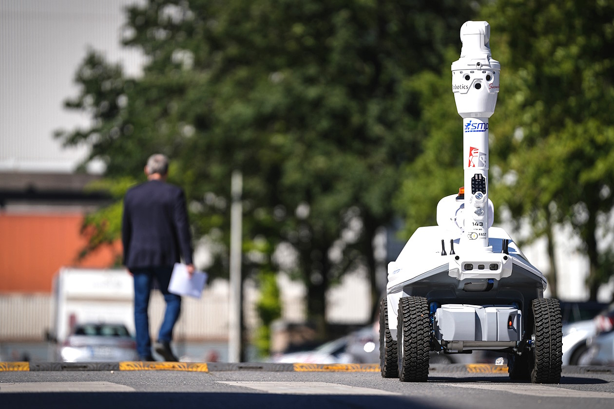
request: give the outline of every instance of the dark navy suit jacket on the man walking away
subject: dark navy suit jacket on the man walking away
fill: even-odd
[[[181,188],[150,180],[131,188],[123,201],[123,264],[131,268],[192,264],[185,195]]]

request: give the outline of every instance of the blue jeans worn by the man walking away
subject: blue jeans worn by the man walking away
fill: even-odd
[[[149,335],[149,295],[153,287],[153,280],[158,281],[160,291],[164,295],[166,311],[158,342],[171,342],[173,340],[173,327],[181,313],[181,297],[168,292],[168,283],[171,280],[173,267],[144,267],[130,269],[134,277],[134,327],[136,329],[136,350],[140,357],[152,355],[151,338]]]

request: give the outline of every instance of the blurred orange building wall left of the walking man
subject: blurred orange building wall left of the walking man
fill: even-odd
[[[83,218],[80,213],[0,213],[0,292],[51,292],[62,266],[111,267],[122,254],[119,242],[77,261],[87,243],[79,232]]]

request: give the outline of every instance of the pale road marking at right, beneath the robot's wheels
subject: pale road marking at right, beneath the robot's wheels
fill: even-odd
[[[519,395],[564,398],[596,398],[614,399],[613,392],[575,391],[573,389],[557,388],[555,386],[514,383],[446,383],[454,388],[484,389],[486,391],[504,391]]]

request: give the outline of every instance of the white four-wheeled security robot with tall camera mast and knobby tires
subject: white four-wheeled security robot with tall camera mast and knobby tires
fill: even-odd
[[[490,26],[467,21],[452,90],[463,118],[464,189],[437,205],[438,226],[419,227],[388,265],[380,308],[385,378],[426,381],[429,352],[507,353],[513,380],[559,383],[561,308],[543,298],[546,280],[510,236],[492,227],[488,118],[499,93]]]

